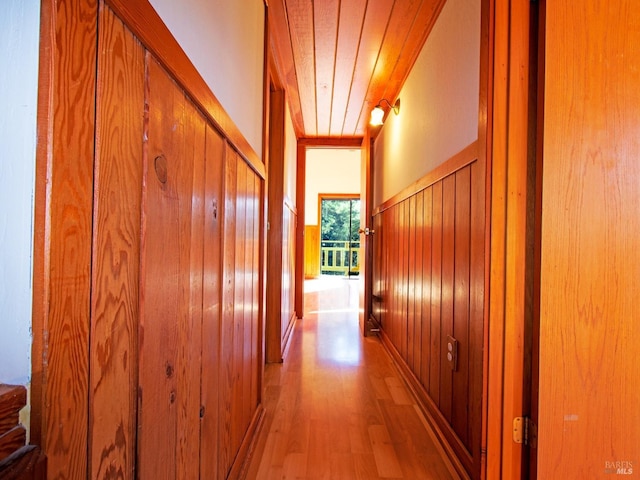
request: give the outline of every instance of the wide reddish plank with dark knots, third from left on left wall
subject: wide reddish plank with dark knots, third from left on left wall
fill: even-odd
[[[192,282],[201,282],[202,252],[192,250],[201,235],[194,221],[200,218],[199,229],[203,222],[193,198],[202,197],[205,124],[149,54],[147,76],[138,472],[174,478],[190,476],[185,469],[199,463],[189,455],[199,451],[201,317],[192,303],[202,292]]]

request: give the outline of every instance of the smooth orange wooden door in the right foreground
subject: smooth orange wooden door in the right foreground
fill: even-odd
[[[637,475],[639,25],[546,5],[539,478]]]

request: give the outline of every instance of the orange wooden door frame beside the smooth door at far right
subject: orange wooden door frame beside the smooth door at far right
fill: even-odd
[[[535,478],[535,457],[513,440],[513,422],[537,416],[538,8],[537,2],[483,2],[488,41],[483,42],[487,70],[481,71],[481,92],[487,91],[481,99],[487,103],[480,139],[488,160],[488,293],[482,475],[487,479]]]

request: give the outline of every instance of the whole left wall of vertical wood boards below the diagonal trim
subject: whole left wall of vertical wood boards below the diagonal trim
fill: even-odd
[[[238,478],[263,412],[264,166],[109,7],[75,17],[94,22],[97,50],[76,60],[95,82],[73,83],[72,69],[54,91],[90,95],[95,123],[77,95],[53,96],[51,123],[71,130],[48,133],[63,151],[39,177],[45,226],[60,235],[36,247],[34,441],[51,478]],[[57,38],[75,31],[49,20]],[[82,132],[75,111],[91,117]],[[70,144],[91,153],[80,162]]]

